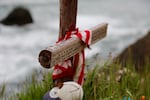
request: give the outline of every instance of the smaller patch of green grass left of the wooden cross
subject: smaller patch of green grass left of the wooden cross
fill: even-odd
[[[37,74],[37,73],[36,73]],[[9,100],[42,100],[44,93],[52,88],[51,73],[43,75],[41,82],[37,81],[35,75],[32,75],[32,84],[25,84],[20,93],[13,95]]]

